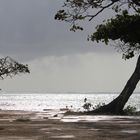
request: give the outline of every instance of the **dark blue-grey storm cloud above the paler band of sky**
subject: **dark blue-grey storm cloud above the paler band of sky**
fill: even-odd
[[[62,3],[56,0],[0,0],[0,54],[30,60],[94,51],[86,41],[87,31],[72,33],[68,25],[54,20]]]

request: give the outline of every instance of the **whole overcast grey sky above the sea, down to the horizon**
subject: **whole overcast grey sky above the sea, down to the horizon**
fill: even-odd
[[[0,81],[5,91],[121,91],[136,58],[125,61],[113,47],[87,41],[105,13],[70,32],[54,20],[62,0],[0,0],[0,56],[29,64],[31,74]],[[136,91],[140,91],[137,86]]]

